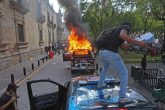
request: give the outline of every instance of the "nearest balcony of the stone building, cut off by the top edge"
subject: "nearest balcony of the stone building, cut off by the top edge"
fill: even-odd
[[[20,2],[21,1],[21,2]],[[29,12],[28,2],[22,1],[22,0],[10,0],[10,5],[13,9],[18,10],[22,12],[23,14],[26,14]]]

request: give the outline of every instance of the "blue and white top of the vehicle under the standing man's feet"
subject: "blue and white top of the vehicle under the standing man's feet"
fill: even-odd
[[[131,102],[118,103],[119,81],[106,78],[106,87],[96,87],[98,77],[77,78],[70,87],[67,110],[156,110],[157,107],[136,90],[128,88]]]

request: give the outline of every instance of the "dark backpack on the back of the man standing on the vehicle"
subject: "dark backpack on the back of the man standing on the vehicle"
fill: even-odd
[[[113,36],[113,33],[115,32],[117,28],[108,28],[104,31],[102,31],[95,41],[95,46],[98,50],[105,47],[106,44],[108,44],[109,38]]]

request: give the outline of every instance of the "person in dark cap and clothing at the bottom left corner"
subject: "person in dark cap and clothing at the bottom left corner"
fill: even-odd
[[[16,88],[15,84],[8,85],[6,92],[0,97],[0,110],[15,110]]]

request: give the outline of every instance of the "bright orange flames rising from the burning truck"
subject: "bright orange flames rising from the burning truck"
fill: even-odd
[[[88,54],[92,50],[92,45],[86,37],[85,33],[82,33],[81,36],[78,35],[77,29],[72,28],[71,33],[68,37],[70,53],[75,52],[78,55]]]

